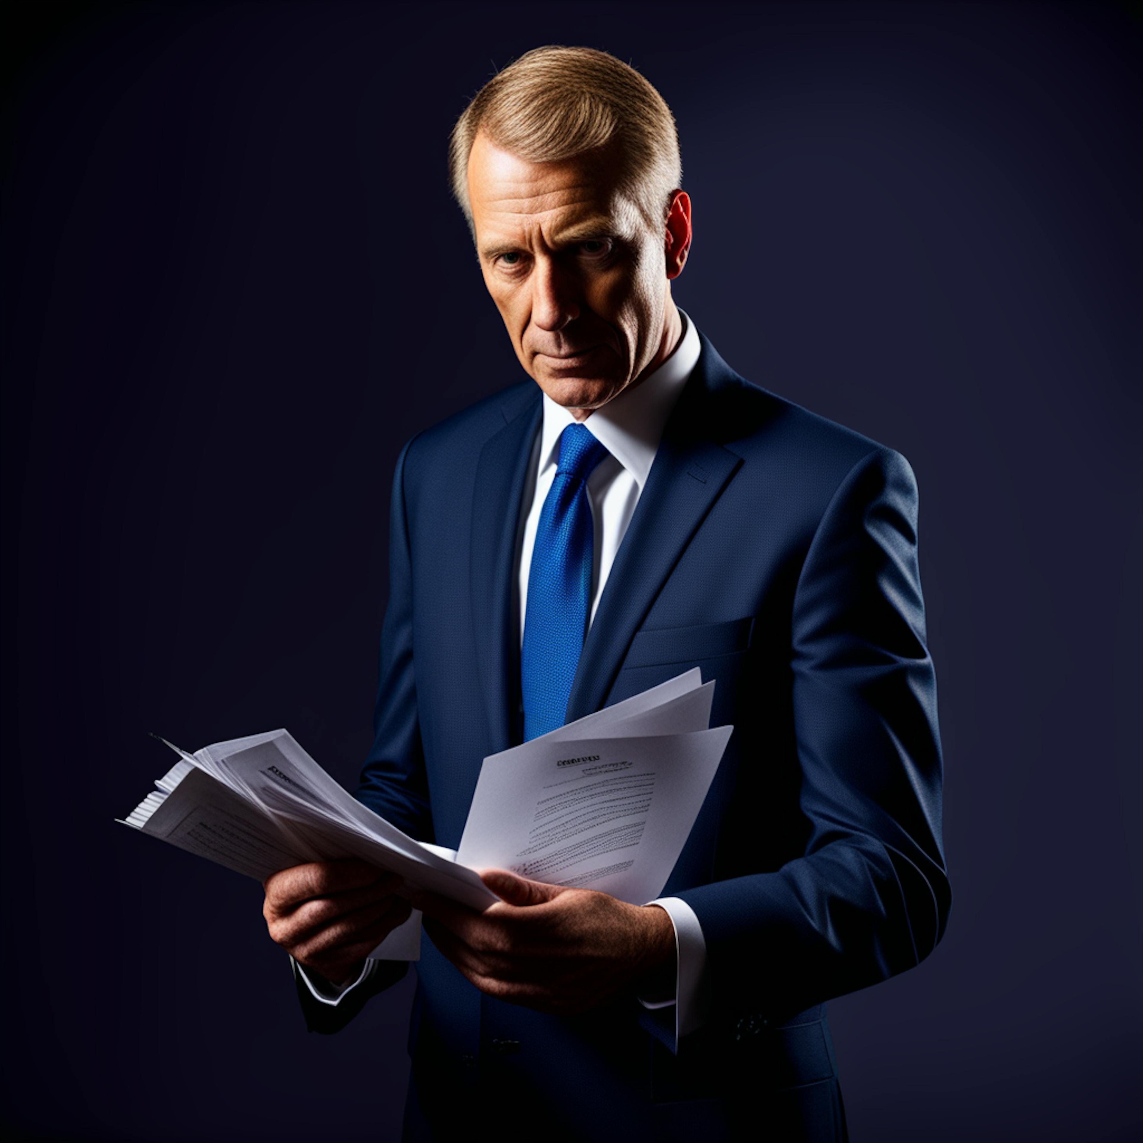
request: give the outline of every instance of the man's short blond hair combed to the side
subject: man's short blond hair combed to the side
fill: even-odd
[[[634,67],[594,48],[533,48],[472,97],[449,139],[453,194],[470,229],[469,154],[481,131],[528,162],[558,162],[618,143],[625,168],[620,185],[650,223],[665,221],[682,182],[671,109]]]

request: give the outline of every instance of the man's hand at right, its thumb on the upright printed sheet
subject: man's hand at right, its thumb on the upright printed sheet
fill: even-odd
[[[673,991],[674,926],[665,910],[504,870],[481,878],[503,898],[482,913],[413,894],[433,944],[481,992],[570,1015],[664,978]]]

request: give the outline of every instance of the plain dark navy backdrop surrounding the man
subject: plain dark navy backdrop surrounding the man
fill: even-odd
[[[152,729],[286,726],[353,782],[397,451],[519,376],[446,137],[494,65],[566,42],[678,117],[679,302],[920,481],[956,902],[929,961],[831,1006],[854,1140],[1137,1137],[1127,8],[9,13],[10,1127],[394,1137],[408,985],[307,1036],[259,888],[112,818],[168,764]]]

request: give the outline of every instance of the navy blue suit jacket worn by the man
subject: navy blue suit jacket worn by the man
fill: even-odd
[[[517,385],[421,433],[397,464],[376,741],[358,797],[443,846],[459,842],[481,760],[521,740],[515,541],[541,408],[533,382]],[[541,1111],[553,1093],[593,1092],[617,1134],[628,1120],[636,1137],[650,1132],[648,1109],[663,1108],[657,1137],[708,1130],[744,1088],[761,1106],[766,1093],[833,1085],[822,1002],[912,967],[941,938],[950,893],[912,472],[745,382],[705,338],[567,718],[692,666],[718,680],[711,725],[735,727],[664,890],[702,925],[708,1026],[673,1056],[633,998],[543,1016],[483,997],[425,941],[410,1040],[430,1119],[443,1093],[503,1081]],[[334,1030],[360,1002],[309,1005],[311,1026]],[[816,1112],[782,1106],[772,1119],[805,1120],[791,1137],[839,1137],[836,1109],[817,1130]]]

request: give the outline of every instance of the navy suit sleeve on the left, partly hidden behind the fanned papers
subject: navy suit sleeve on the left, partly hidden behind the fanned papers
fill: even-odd
[[[405,461],[413,441],[401,449],[393,475],[389,517],[389,605],[381,633],[381,669],[374,708],[374,743],[354,797],[398,829],[421,841],[432,840],[432,818],[417,724],[413,656],[413,572],[405,499]],[[339,1032],[366,1001],[401,980],[408,965],[377,961],[353,988],[336,998],[318,999],[297,964],[294,980],[311,1032]]]

